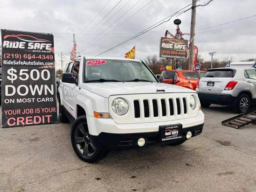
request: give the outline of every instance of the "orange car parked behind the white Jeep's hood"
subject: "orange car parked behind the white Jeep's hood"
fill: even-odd
[[[175,84],[196,90],[196,84],[204,74],[204,71],[166,70],[162,72],[159,80],[163,83]]]

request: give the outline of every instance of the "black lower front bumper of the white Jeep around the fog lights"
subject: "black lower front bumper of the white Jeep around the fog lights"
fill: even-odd
[[[146,132],[146,133],[131,133],[131,134],[113,134],[102,132],[98,136],[92,136],[92,140],[96,144],[97,148],[118,150],[118,149],[130,149],[139,148],[137,142],[139,138],[144,138],[146,144],[143,147],[169,144],[180,140],[186,140],[186,134],[188,131],[192,132],[192,137],[202,133],[204,124],[192,126],[182,129],[182,138],[176,140],[169,140],[162,142],[160,139],[160,131]]]

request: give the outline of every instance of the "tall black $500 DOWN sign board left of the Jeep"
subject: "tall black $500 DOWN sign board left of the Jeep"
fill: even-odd
[[[57,123],[53,35],[1,35],[2,127]]]

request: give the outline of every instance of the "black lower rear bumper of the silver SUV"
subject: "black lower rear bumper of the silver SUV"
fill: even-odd
[[[230,105],[234,103],[236,97],[230,94],[217,94],[217,93],[206,93],[197,92],[200,102],[209,102],[218,105]]]

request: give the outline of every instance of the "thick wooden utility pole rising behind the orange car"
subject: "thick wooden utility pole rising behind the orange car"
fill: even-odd
[[[194,40],[196,28],[196,0],[192,0],[191,25],[190,25],[190,46],[189,46],[189,66],[188,70],[194,68]]]

